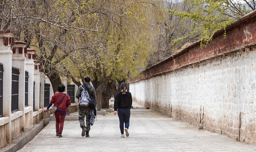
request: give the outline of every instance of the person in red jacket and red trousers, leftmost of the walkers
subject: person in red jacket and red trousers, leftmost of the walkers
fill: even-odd
[[[56,119],[56,136],[62,137],[62,130],[64,126],[64,120],[66,116],[67,107],[71,104],[68,94],[65,92],[65,86],[60,85],[58,87],[58,92],[56,92],[50,101],[46,111],[54,104],[57,107],[56,112],[54,113]],[[61,101],[62,100],[62,101]],[[60,103],[61,102],[61,103]],[[59,104],[60,103],[60,104]]]

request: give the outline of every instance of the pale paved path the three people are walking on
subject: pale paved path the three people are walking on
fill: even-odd
[[[99,115],[90,138],[82,137],[78,121],[65,121],[63,137],[55,136],[55,121],[19,151],[256,151],[255,145],[197,130],[150,109],[133,104],[129,137],[121,138],[118,116]]]

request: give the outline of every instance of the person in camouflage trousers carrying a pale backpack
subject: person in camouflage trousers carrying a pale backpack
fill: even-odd
[[[91,129],[90,124],[90,112],[91,108],[89,106],[89,101],[87,99],[93,99],[96,105],[96,91],[95,88],[91,85],[91,78],[89,75],[84,77],[85,83],[78,88],[76,93],[76,98],[79,99],[79,122],[80,127],[82,128],[82,136],[90,137],[89,131]],[[96,107],[96,106],[95,106]],[[86,125],[85,125],[86,118]]]

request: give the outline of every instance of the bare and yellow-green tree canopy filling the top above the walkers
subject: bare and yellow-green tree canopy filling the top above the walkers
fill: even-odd
[[[0,0],[1,29],[36,50],[57,91],[61,77],[81,85],[89,74],[101,105],[109,90],[255,9],[254,1]],[[225,36],[225,32],[224,32]]]

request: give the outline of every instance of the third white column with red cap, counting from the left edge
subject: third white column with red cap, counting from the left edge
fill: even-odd
[[[31,110],[29,112],[29,125],[33,124],[33,81],[34,81],[34,61],[35,59],[35,50],[33,49],[26,49],[26,70],[28,71],[28,106]]]

